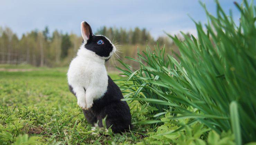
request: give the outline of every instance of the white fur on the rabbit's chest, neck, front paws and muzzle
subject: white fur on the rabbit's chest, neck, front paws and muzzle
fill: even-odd
[[[91,108],[93,100],[99,99],[106,93],[108,75],[104,65],[105,59],[110,58],[116,51],[116,47],[109,41],[113,46],[110,56],[100,57],[84,48],[86,42],[77,51],[77,56],[71,61],[67,72],[68,84],[73,87],[77,104],[83,109]]]

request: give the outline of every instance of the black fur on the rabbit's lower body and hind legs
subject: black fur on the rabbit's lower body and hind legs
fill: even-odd
[[[71,86],[70,91],[74,94]],[[129,127],[131,129],[130,108],[125,101],[121,101],[122,98],[124,97],[121,90],[108,76],[107,92],[100,99],[93,101],[92,108],[83,110],[85,118],[92,125],[99,120],[99,126],[102,127],[102,119],[107,115],[106,125],[108,128],[112,125],[114,133],[129,130]]]

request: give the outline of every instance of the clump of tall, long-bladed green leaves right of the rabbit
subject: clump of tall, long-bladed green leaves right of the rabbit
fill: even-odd
[[[237,144],[256,141],[256,8],[253,1],[235,3],[241,14],[236,26],[231,11],[227,16],[216,3],[216,17],[202,4],[208,23],[195,22],[197,37],[169,35],[180,62],[158,46],[126,57],[140,64],[138,70],[120,61],[128,77],[121,88],[126,100],[155,106],[155,117],[170,111],[172,119],[190,118],[219,134],[232,130]]]

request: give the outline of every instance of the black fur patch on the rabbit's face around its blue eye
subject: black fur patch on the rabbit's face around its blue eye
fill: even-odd
[[[99,45],[97,42],[99,40],[103,41],[103,44]],[[87,43],[84,45],[84,47],[88,50],[91,50],[95,52],[98,56],[101,57],[109,57],[110,52],[113,50],[112,44],[109,42],[109,40],[104,36],[95,36],[93,35]]]

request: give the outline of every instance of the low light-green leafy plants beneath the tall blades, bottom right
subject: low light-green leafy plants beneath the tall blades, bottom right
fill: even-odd
[[[177,144],[177,145],[235,145],[234,137],[231,132],[223,132],[221,135],[215,131],[210,131],[208,127],[199,122],[190,123],[190,119],[170,119],[171,113],[167,112],[165,117],[161,118],[164,125],[157,128],[156,132],[148,133],[148,137],[143,139],[143,144]],[[177,129],[182,126],[179,131]],[[210,132],[209,132],[210,131]],[[207,135],[207,132],[209,134]]]

